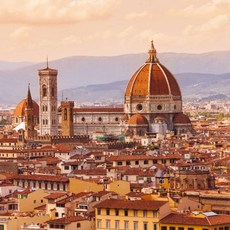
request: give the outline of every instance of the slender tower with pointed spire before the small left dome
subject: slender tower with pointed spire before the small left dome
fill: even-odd
[[[25,138],[27,140],[33,140],[34,138],[34,108],[30,93],[30,85],[28,85],[25,103]]]

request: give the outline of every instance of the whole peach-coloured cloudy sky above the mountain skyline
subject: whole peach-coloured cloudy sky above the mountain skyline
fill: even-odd
[[[230,50],[230,0],[1,0],[0,60]]]

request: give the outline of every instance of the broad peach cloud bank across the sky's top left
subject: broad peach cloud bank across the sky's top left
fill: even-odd
[[[0,23],[71,24],[110,17],[119,0],[8,0],[1,2]]]

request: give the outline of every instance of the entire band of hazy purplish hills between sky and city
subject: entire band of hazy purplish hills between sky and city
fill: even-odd
[[[145,62],[146,53],[112,57],[74,56],[49,62],[58,69],[59,99],[77,102],[111,100],[123,101],[127,81]],[[184,98],[206,98],[218,94],[230,95],[230,51],[204,54],[162,53],[158,58],[175,74]],[[46,63],[21,63],[17,67],[0,62],[0,103],[17,104],[25,98],[30,82],[32,97],[38,98],[38,69]],[[111,83],[112,82],[112,83]],[[110,83],[110,84],[109,84]],[[88,86],[87,86],[88,85]]]

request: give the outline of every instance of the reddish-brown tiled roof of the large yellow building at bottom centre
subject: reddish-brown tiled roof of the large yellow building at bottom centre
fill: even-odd
[[[132,210],[158,210],[167,201],[155,200],[118,200],[107,199],[97,204],[96,208],[132,209]]]

